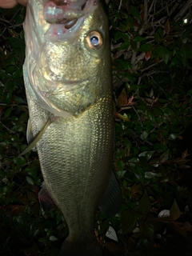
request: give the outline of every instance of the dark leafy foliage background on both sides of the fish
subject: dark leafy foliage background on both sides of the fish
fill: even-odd
[[[114,170],[123,206],[110,220],[97,214],[96,234],[106,253],[154,252],[192,230],[192,170],[182,146],[192,113],[190,3],[109,3]],[[66,222],[59,210],[44,213],[39,206],[42,176],[36,152],[18,158],[26,148],[28,118],[22,81],[24,14],[23,7],[0,13],[0,254],[51,256],[66,237]],[[118,243],[105,238],[109,226]]]

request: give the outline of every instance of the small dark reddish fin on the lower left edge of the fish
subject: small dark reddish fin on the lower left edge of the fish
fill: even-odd
[[[42,183],[42,189],[38,192],[38,200],[42,206],[42,209],[45,211],[49,211],[56,207],[54,200],[51,198],[44,182]]]

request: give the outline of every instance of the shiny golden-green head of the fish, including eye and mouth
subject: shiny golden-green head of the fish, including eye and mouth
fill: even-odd
[[[111,85],[106,13],[98,0],[30,0],[27,11],[26,66],[34,93],[54,114],[78,114],[109,90],[103,84]]]

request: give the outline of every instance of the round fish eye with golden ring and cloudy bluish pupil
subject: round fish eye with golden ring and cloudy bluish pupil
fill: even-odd
[[[86,36],[86,42],[90,49],[98,50],[103,43],[102,35],[98,31],[91,31]]]

